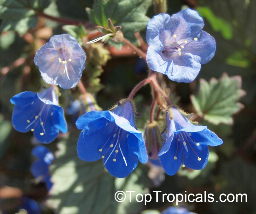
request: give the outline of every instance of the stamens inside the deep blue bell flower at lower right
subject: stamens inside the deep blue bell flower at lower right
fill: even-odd
[[[184,132],[184,131],[181,131],[179,132],[177,135],[175,135],[176,137],[176,143],[177,143],[177,148],[176,148],[176,154],[174,156],[174,160],[177,160],[177,152],[178,152],[178,146],[179,146],[179,143],[180,143],[180,146],[181,146],[181,151],[182,151],[182,158],[183,158],[183,164],[182,164],[182,167],[184,168],[185,165],[184,165],[184,150],[183,150],[183,147],[185,148],[185,150],[188,152],[188,146],[190,147],[190,149],[195,153],[196,157],[197,157],[197,160],[198,161],[201,161],[201,158],[196,154],[195,150],[193,149],[193,147],[191,146],[190,143],[195,143],[196,146],[199,146],[200,143],[197,143],[196,141],[194,141],[192,138],[191,138],[191,133],[187,133],[187,132]],[[188,146],[187,146],[188,145]]]

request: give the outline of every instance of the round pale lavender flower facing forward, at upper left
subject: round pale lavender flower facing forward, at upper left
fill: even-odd
[[[55,35],[36,52],[34,62],[46,83],[70,89],[82,76],[85,53],[74,37]]]

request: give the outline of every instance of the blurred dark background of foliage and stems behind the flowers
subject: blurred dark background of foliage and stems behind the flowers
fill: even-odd
[[[35,161],[31,150],[39,143],[31,132],[17,132],[11,123],[12,96],[22,91],[37,92],[45,86],[38,67],[33,63],[36,50],[48,42],[52,35],[71,34],[74,31],[76,36],[80,36],[78,42],[83,45],[87,56],[82,81],[87,91],[95,97],[98,106],[104,110],[127,97],[132,88],[147,77],[148,68],[145,61],[125,45],[119,50],[120,46],[116,44],[114,46],[101,43],[85,44],[86,41],[99,35],[94,31],[95,26],[85,12],[86,7],[93,8],[93,1],[9,0],[9,2],[13,2],[14,5],[17,2],[22,3],[21,5],[25,5],[27,10],[33,4],[36,9],[29,8],[29,10],[34,10],[36,13],[18,19],[10,14],[6,15],[4,6],[7,3],[0,2],[2,213],[21,213],[21,209],[27,210],[29,214],[141,213],[143,210],[162,212],[170,206],[175,206],[175,203],[156,202],[155,194],[152,194],[153,199],[147,206],[136,201],[117,203],[114,200],[114,193],[117,190],[135,190],[141,194],[152,191],[162,191],[167,194],[184,194],[185,191],[204,194],[204,191],[207,191],[213,193],[215,197],[222,193],[246,193],[247,203],[184,202],[179,206],[199,214],[256,214],[255,0],[167,1],[166,10],[170,15],[187,7],[197,10],[204,19],[203,30],[212,35],[217,44],[214,58],[202,65],[198,77],[192,83],[176,83],[166,76],[158,76],[161,86],[169,91],[172,103],[188,112],[196,113],[197,109],[191,101],[191,96],[198,98],[199,89],[204,90],[200,85],[200,79],[207,82],[212,78],[217,79],[223,87],[217,89],[221,90],[220,94],[223,93],[223,96],[230,88],[235,90],[234,94],[239,91],[236,93],[237,101],[240,102],[237,104],[240,106],[239,111],[230,112],[227,120],[223,119],[220,122],[207,117],[196,118],[199,124],[207,125],[224,142],[219,147],[210,147],[209,161],[203,170],[185,168],[180,169],[174,176],[168,176],[157,166],[140,163],[130,176],[120,179],[105,173],[101,160],[93,163],[81,161],[76,154],[76,142],[80,131],[75,126],[81,111],[79,108],[71,109],[72,101],[78,99],[80,93],[75,88],[60,89],[60,105],[66,113],[68,134],[60,134],[55,141],[46,145],[56,156],[55,162],[50,167],[54,183],[50,192],[47,191],[45,183],[36,180],[30,172],[30,167]],[[150,2],[146,13],[149,18],[165,10],[157,7],[165,1]],[[14,10],[12,12],[15,13]],[[68,20],[82,21],[86,32],[77,33],[80,28],[70,28],[67,24],[72,23]],[[140,31],[142,50],[147,49],[145,34],[146,29]],[[232,92],[228,96],[231,96]],[[142,115],[136,118],[136,126],[140,131],[144,130],[144,125],[148,121],[151,101],[149,86],[143,87],[134,97],[137,111]],[[231,117],[233,119],[230,119]]]

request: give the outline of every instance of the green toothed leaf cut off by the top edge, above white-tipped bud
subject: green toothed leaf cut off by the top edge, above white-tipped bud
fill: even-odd
[[[115,26],[121,26],[124,37],[134,41],[134,33],[146,28],[149,18],[145,15],[151,0],[100,0],[86,11],[90,20],[102,27],[108,27],[108,18]]]

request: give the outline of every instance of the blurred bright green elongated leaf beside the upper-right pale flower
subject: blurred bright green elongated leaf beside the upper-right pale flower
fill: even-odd
[[[215,16],[209,7],[197,7],[197,11],[199,12],[200,16],[209,21],[214,31],[220,31],[224,39],[232,39],[232,27],[228,22]]]

